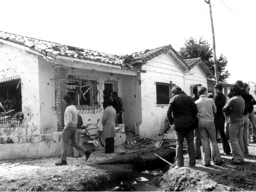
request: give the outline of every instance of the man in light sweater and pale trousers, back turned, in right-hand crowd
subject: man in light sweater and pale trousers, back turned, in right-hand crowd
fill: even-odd
[[[216,112],[216,105],[212,98],[207,98],[206,87],[199,86],[198,93],[200,96],[199,99],[195,101],[195,104],[198,110],[198,128],[202,139],[202,164],[204,166],[210,166],[209,148],[211,148],[211,157],[213,163],[216,165],[220,165],[222,163],[222,159],[216,141],[216,132],[213,116],[213,113]]]

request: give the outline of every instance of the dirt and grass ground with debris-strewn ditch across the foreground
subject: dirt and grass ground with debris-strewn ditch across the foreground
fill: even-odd
[[[103,149],[93,151],[87,161],[84,156],[68,156],[65,166],[55,166],[59,157],[1,160],[0,191],[256,191],[256,143],[249,144],[244,165],[231,165],[232,156],[222,154],[225,161],[220,166],[212,163],[205,167],[196,160],[196,166],[189,167],[184,150],[185,166],[174,169],[174,164],[166,165],[152,154],[172,163],[174,140],[164,140],[161,147],[150,150],[145,147],[155,145],[159,137],[142,144],[141,140],[134,142],[132,135],[127,138],[131,142],[115,147],[112,154],[105,154]],[[223,153],[222,144],[218,146]],[[161,174],[152,176],[150,171]],[[133,186],[141,184],[135,179],[140,176],[148,181],[138,189]],[[156,188],[150,188],[153,185]]]

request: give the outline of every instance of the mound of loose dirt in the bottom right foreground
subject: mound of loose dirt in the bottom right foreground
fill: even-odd
[[[255,163],[170,167],[160,178],[162,191],[243,191],[256,189]]]

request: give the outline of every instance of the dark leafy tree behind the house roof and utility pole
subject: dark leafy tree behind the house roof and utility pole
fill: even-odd
[[[183,59],[201,57],[202,61],[207,65],[212,74],[215,74],[212,48],[210,48],[208,41],[204,40],[202,37],[199,38],[199,42],[193,37],[188,38],[185,41],[184,46],[181,47],[178,52]],[[221,54],[219,58],[217,58],[219,81],[225,81],[230,75],[228,70],[225,70],[226,64],[227,59]]]

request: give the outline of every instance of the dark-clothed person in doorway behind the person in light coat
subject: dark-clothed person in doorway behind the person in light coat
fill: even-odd
[[[117,93],[115,91],[111,92],[111,96],[113,97],[113,107],[116,111],[116,120],[115,120],[115,126],[116,126],[118,124],[122,124],[122,112],[124,110],[123,110],[121,97],[117,96]]]

